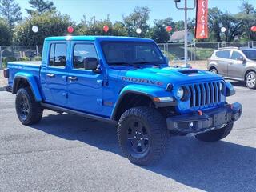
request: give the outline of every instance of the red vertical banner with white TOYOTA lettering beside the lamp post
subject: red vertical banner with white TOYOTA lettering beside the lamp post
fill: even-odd
[[[208,0],[197,0],[195,38],[208,38]]]

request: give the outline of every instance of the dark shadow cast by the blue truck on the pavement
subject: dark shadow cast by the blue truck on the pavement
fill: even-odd
[[[122,155],[116,128],[74,116],[49,115],[32,126],[57,137],[78,140],[100,150]],[[231,142],[204,143],[195,138],[173,137],[165,158],[143,166],[155,174],[206,191],[253,191],[256,183],[256,149]]]

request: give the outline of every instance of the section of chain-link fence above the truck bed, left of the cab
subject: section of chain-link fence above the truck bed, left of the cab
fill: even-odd
[[[40,61],[42,46],[0,46],[0,70],[7,62]]]

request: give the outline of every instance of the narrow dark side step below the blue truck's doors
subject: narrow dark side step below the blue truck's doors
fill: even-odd
[[[57,112],[63,111],[63,112],[66,112],[68,114],[76,114],[76,115],[79,115],[79,116],[82,116],[82,117],[85,117],[85,118],[92,118],[92,119],[98,120],[100,122],[108,122],[108,123],[114,124],[114,125],[118,124],[118,122],[116,122],[116,121],[114,121],[110,118],[103,118],[101,116],[97,116],[97,115],[94,115],[94,114],[86,114],[86,113],[81,112],[81,111],[66,109],[62,106],[54,106],[54,105],[44,103],[44,102],[41,103],[41,106],[48,109],[48,110],[54,110],[54,111],[57,111]]]

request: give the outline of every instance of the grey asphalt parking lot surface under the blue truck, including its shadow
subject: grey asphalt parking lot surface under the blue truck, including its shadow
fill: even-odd
[[[114,126],[45,110],[22,126],[14,95],[0,91],[0,191],[255,191],[256,90],[233,82],[242,118],[221,142],[170,138],[154,166],[122,156]]]

